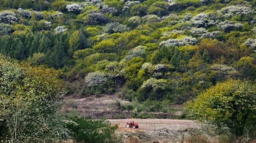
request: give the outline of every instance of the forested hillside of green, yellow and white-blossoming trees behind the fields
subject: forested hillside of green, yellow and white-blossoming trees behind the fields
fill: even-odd
[[[255,79],[255,6],[231,0],[1,0],[0,52],[60,70],[68,94],[121,91],[130,101],[182,104],[228,78]]]

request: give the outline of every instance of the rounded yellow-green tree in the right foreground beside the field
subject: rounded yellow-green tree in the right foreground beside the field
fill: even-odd
[[[232,134],[242,136],[246,126],[255,126],[256,85],[229,79],[206,90],[187,107],[189,116],[219,128],[228,127]]]

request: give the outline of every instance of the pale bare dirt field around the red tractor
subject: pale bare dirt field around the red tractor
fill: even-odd
[[[190,130],[197,129],[197,123],[191,120],[172,119],[112,119],[112,125],[117,124],[117,136],[122,142],[182,142]],[[125,128],[126,122],[134,121],[139,128]]]

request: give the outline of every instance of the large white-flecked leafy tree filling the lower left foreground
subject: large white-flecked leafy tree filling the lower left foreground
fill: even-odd
[[[56,72],[0,60],[0,139],[47,142],[67,132],[56,118],[65,94]]]

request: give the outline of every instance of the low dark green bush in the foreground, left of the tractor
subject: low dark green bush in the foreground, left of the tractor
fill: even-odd
[[[76,141],[90,143],[114,142],[113,133],[118,128],[117,125],[111,126],[106,120],[91,120],[82,117],[70,118],[66,125]]]

